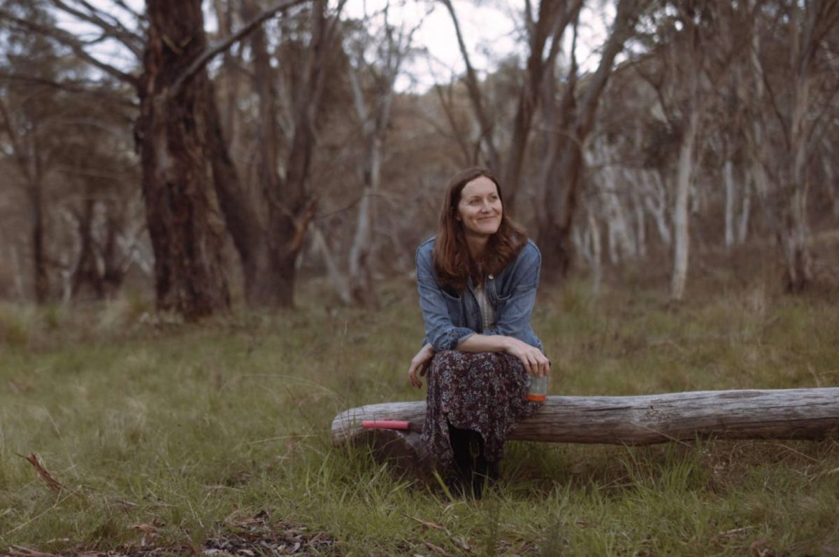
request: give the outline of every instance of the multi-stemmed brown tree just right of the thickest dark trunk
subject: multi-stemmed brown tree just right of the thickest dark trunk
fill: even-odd
[[[248,39],[257,100],[252,118],[253,183],[216,183],[221,211],[242,261],[245,297],[253,307],[291,307],[297,263],[315,216],[312,184],[318,122],[327,83],[340,64],[340,0],[333,11],[313,0],[300,18],[289,18],[272,41],[264,29]],[[264,13],[243,0],[248,20]],[[287,36],[286,36],[287,35]],[[246,172],[250,176],[249,172]]]

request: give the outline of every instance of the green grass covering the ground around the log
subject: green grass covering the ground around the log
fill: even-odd
[[[836,441],[510,443],[481,502],[331,447],[336,413],[424,396],[405,377],[421,336],[413,286],[383,298],[378,313],[201,326],[136,301],[0,307],[0,553],[136,546],[141,524],[197,549],[262,510],[342,554],[839,553]],[[670,307],[573,283],[543,298],[552,394],[839,383],[839,312],[817,297],[743,286]],[[30,453],[64,490],[16,455]]]

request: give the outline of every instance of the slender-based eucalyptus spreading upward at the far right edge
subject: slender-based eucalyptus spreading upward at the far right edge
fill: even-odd
[[[767,2],[754,19],[753,87],[747,128],[758,194],[784,261],[784,286],[801,292],[815,278],[810,185],[822,142],[835,129],[839,2]]]

